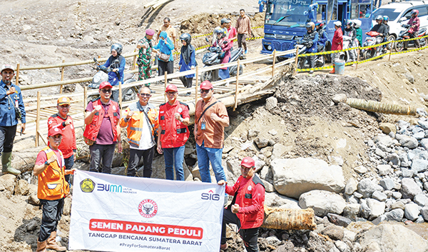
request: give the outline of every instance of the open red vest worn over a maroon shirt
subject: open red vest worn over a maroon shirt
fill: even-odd
[[[113,110],[113,107],[117,108],[118,104],[116,101],[110,100],[111,105],[108,106],[108,117],[110,118],[111,122],[111,129],[113,130],[113,142],[117,141],[118,139],[118,131],[116,128],[116,125],[118,124],[118,113],[116,112],[116,109]],[[95,108],[98,105],[101,105],[101,100],[96,99],[96,101],[92,102],[93,108]],[[101,124],[103,123],[104,114],[106,112],[104,109],[100,109],[96,114],[93,116],[93,119],[91,121],[91,124],[86,125],[85,132],[83,132],[83,136],[92,140],[96,141],[96,136],[98,136],[98,131],[100,131]]]

